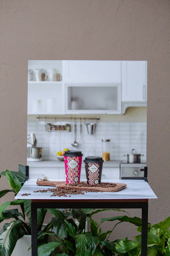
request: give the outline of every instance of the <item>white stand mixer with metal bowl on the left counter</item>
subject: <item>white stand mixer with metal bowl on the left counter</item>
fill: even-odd
[[[42,148],[36,147],[36,138],[34,133],[27,134],[27,161],[42,161]]]

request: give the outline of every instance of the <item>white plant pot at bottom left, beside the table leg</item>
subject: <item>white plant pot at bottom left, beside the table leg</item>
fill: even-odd
[[[22,238],[20,238],[17,241],[11,256],[18,256],[18,255],[32,256],[31,249],[28,251],[30,246],[31,246],[31,235],[24,235]]]

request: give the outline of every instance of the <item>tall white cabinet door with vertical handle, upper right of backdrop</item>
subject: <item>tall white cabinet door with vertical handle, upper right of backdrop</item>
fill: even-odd
[[[147,101],[147,62],[122,61],[122,101]]]

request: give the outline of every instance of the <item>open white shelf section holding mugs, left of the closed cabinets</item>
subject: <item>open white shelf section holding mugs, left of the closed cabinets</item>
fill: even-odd
[[[28,114],[63,114],[62,60],[29,60]],[[36,70],[42,69],[45,81],[37,81]],[[53,74],[61,74],[61,81],[53,81]]]

